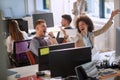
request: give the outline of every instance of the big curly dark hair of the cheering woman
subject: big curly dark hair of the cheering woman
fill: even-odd
[[[83,21],[88,25],[88,32],[92,32],[94,30],[94,25],[92,20],[88,17],[88,16],[80,16],[77,18],[76,20],[76,28],[78,30],[78,32],[80,33],[81,31],[79,30],[79,22]]]

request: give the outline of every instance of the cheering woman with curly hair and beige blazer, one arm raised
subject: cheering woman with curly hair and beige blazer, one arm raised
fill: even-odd
[[[88,16],[80,16],[76,21],[76,28],[78,30],[78,34],[74,38],[69,38],[68,41],[74,41],[76,47],[94,47],[94,37],[102,34],[108,28],[112,25],[112,19],[113,17],[118,14],[120,10],[114,10],[111,14],[110,19],[108,22],[99,30],[93,31],[94,26],[93,22]],[[64,33],[65,36],[67,36],[66,33]]]

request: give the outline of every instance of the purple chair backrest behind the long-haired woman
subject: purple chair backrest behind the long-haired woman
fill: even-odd
[[[15,60],[19,64],[18,66],[24,66],[29,64],[26,51],[29,50],[30,41],[31,40],[14,41],[13,54]]]

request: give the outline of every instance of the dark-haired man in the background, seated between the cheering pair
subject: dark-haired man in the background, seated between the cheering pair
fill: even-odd
[[[61,25],[62,25],[62,27],[64,27],[64,29],[72,29],[72,27],[70,26],[71,21],[72,21],[72,18],[70,15],[68,15],[68,14],[62,15]],[[62,28],[61,28],[61,30],[64,33],[64,30]],[[58,32],[58,34],[57,34],[58,43],[64,43],[65,39],[67,38],[67,35],[64,35],[64,38],[59,38],[59,35],[60,35],[60,32]]]

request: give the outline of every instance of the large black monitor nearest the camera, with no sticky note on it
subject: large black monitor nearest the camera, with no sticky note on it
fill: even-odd
[[[69,48],[50,51],[49,64],[51,77],[75,75],[75,67],[91,61],[91,48]]]

